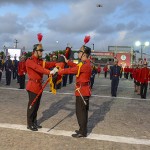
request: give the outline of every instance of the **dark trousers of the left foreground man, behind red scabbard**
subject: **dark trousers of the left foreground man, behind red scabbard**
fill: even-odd
[[[31,109],[29,109],[29,107],[33,102],[34,98],[37,96],[37,94],[28,91],[28,95],[29,95],[29,102],[27,107],[27,126],[32,126],[34,123],[37,122],[37,111],[40,106],[42,94],[38,97],[37,101],[34,103]]]

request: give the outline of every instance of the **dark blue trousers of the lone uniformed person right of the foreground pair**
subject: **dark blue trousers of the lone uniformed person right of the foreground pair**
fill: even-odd
[[[119,77],[112,77],[111,81],[111,95],[117,96],[117,88],[119,84]]]

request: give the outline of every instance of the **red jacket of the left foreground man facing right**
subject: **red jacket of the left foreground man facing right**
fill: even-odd
[[[26,70],[29,80],[26,85],[26,90],[38,94],[42,88],[43,74],[49,75],[50,70],[48,69],[54,67],[55,64],[56,62],[44,62],[34,55],[28,58],[26,60]]]

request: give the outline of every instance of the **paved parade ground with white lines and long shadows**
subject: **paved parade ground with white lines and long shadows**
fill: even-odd
[[[45,80],[47,76],[44,77]],[[75,79],[75,78],[74,78]],[[53,95],[47,86],[38,111],[38,132],[27,130],[28,95],[16,80],[0,83],[0,150],[150,150],[150,90],[147,99],[134,92],[131,79],[120,79],[117,97],[111,81],[96,76],[90,98],[88,136],[73,138],[78,129],[75,84]]]

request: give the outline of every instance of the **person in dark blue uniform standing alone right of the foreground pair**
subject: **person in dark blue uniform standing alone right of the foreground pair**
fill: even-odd
[[[119,84],[121,67],[118,66],[118,60],[114,60],[114,66],[110,67],[110,80],[111,80],[111,95],[117,96],[117,88]]]

